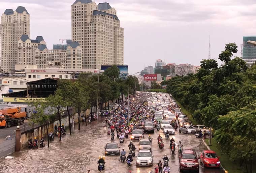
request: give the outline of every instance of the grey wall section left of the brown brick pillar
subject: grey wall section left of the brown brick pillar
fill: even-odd
[[[5,157],[15,151],[15,137],[11,140],[4,140],[0,142],[1,152],[0,158]]]

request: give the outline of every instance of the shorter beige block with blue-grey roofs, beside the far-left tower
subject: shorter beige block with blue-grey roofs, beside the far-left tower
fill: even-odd
[[[18,41],[18,64],[34,65],[35,51],[38,45],[46,45],[42,36],[37,36],[35,40],[30,40],[28,35],[22,35]]]

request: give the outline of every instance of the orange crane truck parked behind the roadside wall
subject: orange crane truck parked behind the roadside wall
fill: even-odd
[[[27,112],[21,112],[21,108],[5,108],[0,110],[0,127],[21,125],[27,116]]]

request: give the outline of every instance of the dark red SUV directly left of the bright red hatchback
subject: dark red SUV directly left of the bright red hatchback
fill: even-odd
[[[180,171],[194,170],[199,172],[199,162],[196,152],[191,149],[184,149],[182,155],[179,157]]]

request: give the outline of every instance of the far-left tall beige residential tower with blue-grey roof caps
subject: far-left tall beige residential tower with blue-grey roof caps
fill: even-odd
[[[18,41],[22,35],[30,37],[30,15],[26,8],[6,9],[1,16],[0,33],[2,69],[10,72],[18,64]]]

